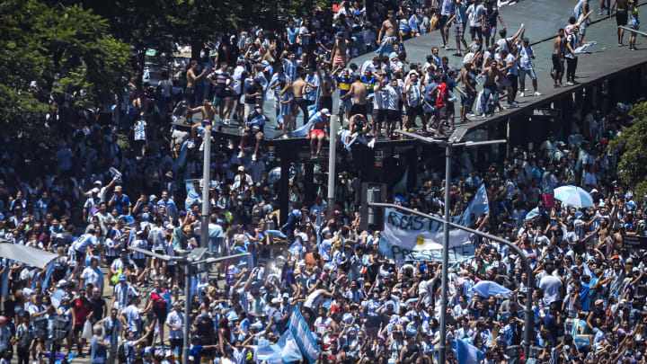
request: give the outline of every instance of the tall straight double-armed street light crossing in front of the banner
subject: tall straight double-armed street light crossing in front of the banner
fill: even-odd
[[[421,142],[427,144],[437,144],[439,146],[445,147],[445,212],[444,217],[441,220],[443,222],[443,253],[442,253],[442,277],[440,280],[440,344],[439,344],[439,363],[445,364],[447,345],[445,338],[447,337],[447,326],[446,326],[446,316],[447,316],[447,306],[448,306],[448,265],[449,265],[449,187],[451,181],[451,157],[452,152],[455,146],[486,146],[492,144],[501,144],[506,143],[505,139],[498,140],[487,140],[483,142],[463,142],[463,143],[452,143],[445,140],[433,139],[421,137],[417,134],[410,133],[404,130],[395,130],[404,136],[418,139]]]

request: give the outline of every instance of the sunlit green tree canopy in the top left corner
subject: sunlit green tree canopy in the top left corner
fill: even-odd
[[[45,138],[45,115],[65,94],[95,106],[123,90],[130,75],[129,46],[78,4],[5,0],[0,39],[0,122],[12,134]]]

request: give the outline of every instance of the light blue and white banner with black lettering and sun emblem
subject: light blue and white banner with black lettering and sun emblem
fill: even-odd
[[[452,220],[454,218],[460,217],[452,217]],[[442,239],[439,223],[386,209],[385,229],[380,235],[379,250],[397,262],[441,261]],[[470,234],[464,230],[450,230],[449,263],[463,262],[473,257],[474,244],[470,241]]]

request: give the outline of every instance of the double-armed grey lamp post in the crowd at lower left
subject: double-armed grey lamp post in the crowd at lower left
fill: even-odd
[[[190,328],[191,324],[189,323],[189,315],[191,315],[191,268],[199,264],[211,264],[214,262],[225,261],[227,259],[241,258],[249,255],[250,253],[241,253],[234,255],[221,256],[217,258],[207,258],[202,259],[202,255],[207,253],[207,248],[195,248],[190,253],[184,256],[170,256],[166,254],[157,254],[151,251],[129,247],[129,250],[137,253],[142,253],[147,256],[153,257],[155,259],[162,260],[164,262],[173,261],[178,265],[182,266],[184,271],[184,330],[183,330],[183,341],[182,341],[182,363],[189,362],[189,335],[191,333]]]

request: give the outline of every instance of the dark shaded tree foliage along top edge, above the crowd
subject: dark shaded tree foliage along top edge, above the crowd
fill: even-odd
[[[167,56],[177,43],[193,46],[198,54],[217,35],[251,26],[277,31],[289,16],[332,6],[330,0],[82,0],[80,4],[107,19],[112,34],[138,53],[155,49]]]

